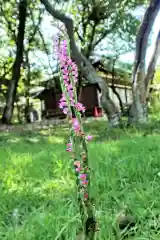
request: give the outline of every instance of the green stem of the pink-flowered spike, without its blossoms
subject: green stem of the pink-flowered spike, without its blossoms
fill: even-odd
[[[70,52],[68,51],[68,55],[70,57]],[[61,71],[60,71],[61,72]],[[62,76],[62,74],[61,74]],[[71,111],[71,106],[70,106],[70,97],[68,94],[68,91],[66,89],[66,86],[63,82],[63,77],[61,78],[61,87],[62,91],[66,97],[67,105],[71,114],[71,119],[72,119],[72,111]],[[73,86],[73,93],[74,93],[74,100],[75,104],[78,103],[77,101],[77,92],[76,92],[76,87],[74,84],[74,78],[73,76],[70,76],[70,82]],[[82,164],[82,169],[84,169],[84,173],[87,174],[87,180],[88,184],[87,186],[81,186],[79,183],[79,179],[77,178],[77,190],[78,190],[78,202],[79,202],[79,207],[80,207],[80,213],[81,213],[81,220],[82,220],[82,225],[83,225],[83,232],[85,236],[85,240],[94,240],[95,239],[95,232],[96,232],[96,221],[95,221],[95,213],[94,213],[94,207],[93,204],[90,200],[90,174],[89,174],[89,162],[88,162],[88,149],[87,149],[87,142],[85,139],[84,135],[84,129],[83,129],[83,123],[81,119],[81,114],[76,110],[75,107],[73,107],[74,114],[76,116],[76,119],[79,122],[80,125],[80,132],[83,133],[82,135],[75,135],[72,133],[72,123],[70,124],[70,129],[71,129],[71,142],[72,142],[72,150],[73,154],[75,155],[75,160],[77,160],[79,157],[81,157],[81,164]],[[79,144],[77,144],[79,143]],[[81,156],[77,156],[77,153],[79,152],[80,147],[82,148],[83,152],[81,152]],[[85,157],[83,159],[83,157]],[[88,170],[87,170],[88,169]],[[84,191],[85,193],[88,194],[87,200],[84,200],[84,197],[80,197],[81,191]]]

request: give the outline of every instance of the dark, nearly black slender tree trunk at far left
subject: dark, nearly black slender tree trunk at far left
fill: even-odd
[[[19,26],[17,35],[17,52],[15,62],[12,69],[12,79],[8,86],[8,92],[6,97],[6,106],[3,112],[2,122],[10,124],[13,115],[14,102],[16,99],[16,92],[18,81],[20,78],[21,63],[23,61],[23,41],[25,33],[25,23],[27,15],[27,0],[21,0],[19,3]]]

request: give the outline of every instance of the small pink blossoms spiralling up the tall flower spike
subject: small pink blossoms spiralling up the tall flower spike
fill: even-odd
[[[85,107],[81,103],[76,102],[74,87],[77,83],[78,69],[76,64],[68,56],[67,40],[62,40],[60,44],[56,45],[57,54],[60,61],[61,73],[63,77],[63,85],[65,91],[63,91],[62,97],[59,101],[59,107],[63,109],[64,114],[69,115],[70,107],[72,106],[76,112],[85,112]],[[76,135],[84,135],[81,131],[81,126],[77,118],[72,118],[72,128]],[[86,140],[92,140],[92,136],[87,136]],[[72,143],[67,144],[66,151],[72,151]],[[82,155],[82,160],[85,161],[85,154]],[[79,173],[80,184],[85,186],[88,184],[87,174],[81,167],[80,161],[74,162],[75,170]],[[85,171],[86,172],[86,171]],[[85,193],[85,198],[88,194]]]

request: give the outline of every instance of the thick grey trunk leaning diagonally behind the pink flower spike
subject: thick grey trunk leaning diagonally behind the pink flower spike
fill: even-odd
[[[98,84],[99,88],[101,89],[101,105],[108,117],[109,124],[112,127],[118,126],[120,124],[120,114],[118,108],[115,106],[114,102],[109,96],[109,87],[107,83],[100,76],[98,76],[92,64],[79,52],[74,39],[72,19],[60,11],[55,10],[54,6],[52,6],[48,0],[41,0],[41,3],[44,4],[47,12],[49,12],[54,18],[64,23],[70,39],[72,59],[76,62],[81,74],[89,83]]]

